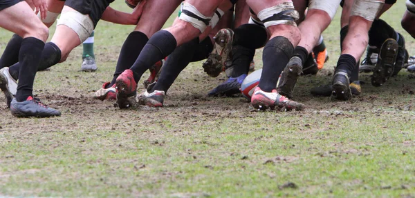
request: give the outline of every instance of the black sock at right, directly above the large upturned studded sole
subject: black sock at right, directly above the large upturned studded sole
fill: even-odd
[[[369,46],[376,46],[380,49],[386,39],[397,39],[394,28],[382,19],[375,19],[369,29]]]

